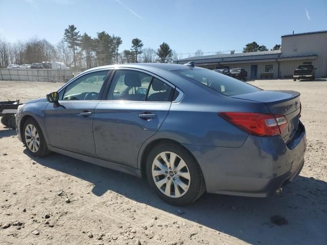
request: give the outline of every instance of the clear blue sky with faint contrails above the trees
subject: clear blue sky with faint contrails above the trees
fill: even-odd
[[[0,38],[58,42],[68,24],[81,34],[138,37],[144,47],[167,42],[177,53],[236,50],[252,41],[271,48],[281,35],[327,30],[327,1],[0,0]]]

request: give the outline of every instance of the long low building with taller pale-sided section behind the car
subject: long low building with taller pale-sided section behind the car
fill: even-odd
[[[244,68],[248,79],[290,78],[298,65],[312,64],[317,68],[316,78],[327,77],[327,31],[284,35],[281,50],[207,55],[176,62],[190,61],[208,69]]]

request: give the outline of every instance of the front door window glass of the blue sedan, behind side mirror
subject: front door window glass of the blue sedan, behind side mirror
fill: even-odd
[[[66,86],[62,96],[63,101],[96,101],[108,70],[95,71],[86,74]],[[61,92],[60,92],[61,93]],[[59,94],[60,94],[59,93]]]

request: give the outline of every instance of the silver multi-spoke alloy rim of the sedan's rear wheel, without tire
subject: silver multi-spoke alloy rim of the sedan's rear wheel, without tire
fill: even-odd
[[[191,184],[188,166],[173,152],[161,152],[154,158],[152,178],[157,188],[170,198],[182,197]]]

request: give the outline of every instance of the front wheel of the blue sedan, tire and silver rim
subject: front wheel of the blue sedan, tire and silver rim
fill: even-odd
[[[27,129],[27,127],[28,127],[28,129]],[[36,131],[34,131],[34,128]],[[30,133],[28,133],[28,132],[30,132]],[[27,136],[26,133],[29,136]],[[30,139],[32,141],[34,139],[35,142],[32,142],[32,144],[31,144]],[[25,121],[25,124],[22,128],[22,140],[26,146],[26,149],[34,157],[44,157],[51,153],[48,149],[48,146],[46,145],[42,130],[34,118],[29,118]],[[27,142],[27,140],[29,140],[29,141]]]

